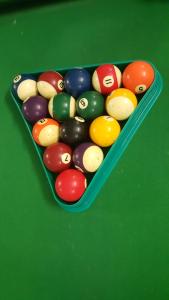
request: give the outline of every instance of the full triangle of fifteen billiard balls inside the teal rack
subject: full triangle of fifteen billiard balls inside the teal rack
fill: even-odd
[[[32,124],[34,141],[44,148],[45,167],[56,174],[55,190],[62,201],[78,201],[87,187],[87,174],[97,172],[109,149],[154,81],[153,67],[135,61],[123,72],[104,64],[90,73],[84,68],[17,75],[13,95],[22,100],[22,113]]]

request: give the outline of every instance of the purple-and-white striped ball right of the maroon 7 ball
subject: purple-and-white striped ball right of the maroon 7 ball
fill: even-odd
[[[93,143],[82,143],[73,152],[75,168],[83,172],[96,172],[103,161],[102,149]]]

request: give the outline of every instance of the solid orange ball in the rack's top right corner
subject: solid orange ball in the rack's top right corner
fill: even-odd
[[[154,81],[154,69],[145,61],[129,64],[123,72],[123,86],[135,94],[144,93]]]

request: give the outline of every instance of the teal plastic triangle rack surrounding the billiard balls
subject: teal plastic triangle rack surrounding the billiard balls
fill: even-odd
[[[124,68],[131,63],[132,61],[126,61],[126,62],[111,62],[112,64],[115,64],[116,66],[118,66],[118,68],[123,71]],[[110,62],[109,62],[110,63]],[[103,63],[102,63],[103,64]],[[80,66],[83,67],[85,69],[87,69],[90,73],[93,73],[93,71],[99,66],[100,64],[97,65],[87,65],[87,66]],[[162,90],[163,87],[163,82],[162,82],[162,78],[160,73],[158,72],[158,70],[156,69],[155,66],[154,70],[155,70],[155,80],[153,82],[153,84],[151,85],[151,87],[148,89],[148,91],[143,94],[142,97],[140,97],[139,99],[139,104],[136,108],[136,110],[134,111],[134,113],[131,115],[131,117],[126,121],[126,123],[123,126],[123,129],[120,133],[120,136],[118,137],[117,141],[114,143],[114,145],[112,145],[109,148],[109,151],[107,152],[104,161],[102,163],[102,165],[100,166],[100,168],[98,169],[98,171],[93,175],[93,176],[89,176],[87,178],[88,181],[88,187],[85,191],[85,193],[83,194],[83,196],[81,197],[81,199],[73,204],[67,204],[65,202],[63,202],[55,193],[55,178],[56,175],[49,172],[46,167],[43,164],[43,151],[44,149],[40,146],[38,146],[33,138],[32,138],[32,125],[29,124],[25,118],[23,117],[22,114],[22,101],[20,101],[19,99],[17,99],[16,97],[14,97],[14,95],[12,94],[12,90],[11,90],[11,95],[12,95],[12,99],[15,103],[15,105],[18,108],[18,111],[26,125],[27,131],[30,134],[30,137],[32,139],[32,143],[35,147],[35,150],[37,152],[37,155],[39,157],[40,163],[42,165],[42,168],[45,172],[46,175],[46,179],[48,181],[50,190],[52,192],[53,198],[55,199],[55,201],[65,210],[70,211],[70,212],[80,212],[80,211],[84,211],[87,208],[90,207],[90,205],[93,203],[93,201],[95,200],[97,194],[99,193],[99,191],[101,190],[102,186],[104,185],[104,183],[106,182],[107,178],[109,177],[110,173],[112,172],[112,170],[114,169],[114,167],[116,166],[118,160],[120,159],[120,157],[122,156],[124,150],[127,148],[129,142],[131,141],[132,137],[134,136],[134,134],[136,133],[137,129],[139,128],[139,126],[141,125],[141,123],[144,121],[146,115],[148,114],[148,112],[150,111],[150,109],[152,108],[152,106],[154,105],[154,103],[156,102],[156,100],[158,99],[158,96]],[[67,71],[69,71],[72,68],[69,69],[59,69],[56,68],[54,69],[55,71],[60,72],[62,75],[64,75]],[[44,70],[43,70],[44,72]],[[37,78],[39,76],[41,72],[34,72],[31,73],[31,75],[33,75],[35,78]]]

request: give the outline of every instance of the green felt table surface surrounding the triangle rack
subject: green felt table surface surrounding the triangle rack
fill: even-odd
[[[0,10],[0,299],[169,299],[169,1]],[[1,6],[0,6],[1,8]],[[61,210],[9,96],[13,75],[129,59],[164,91],[92,207]]]

